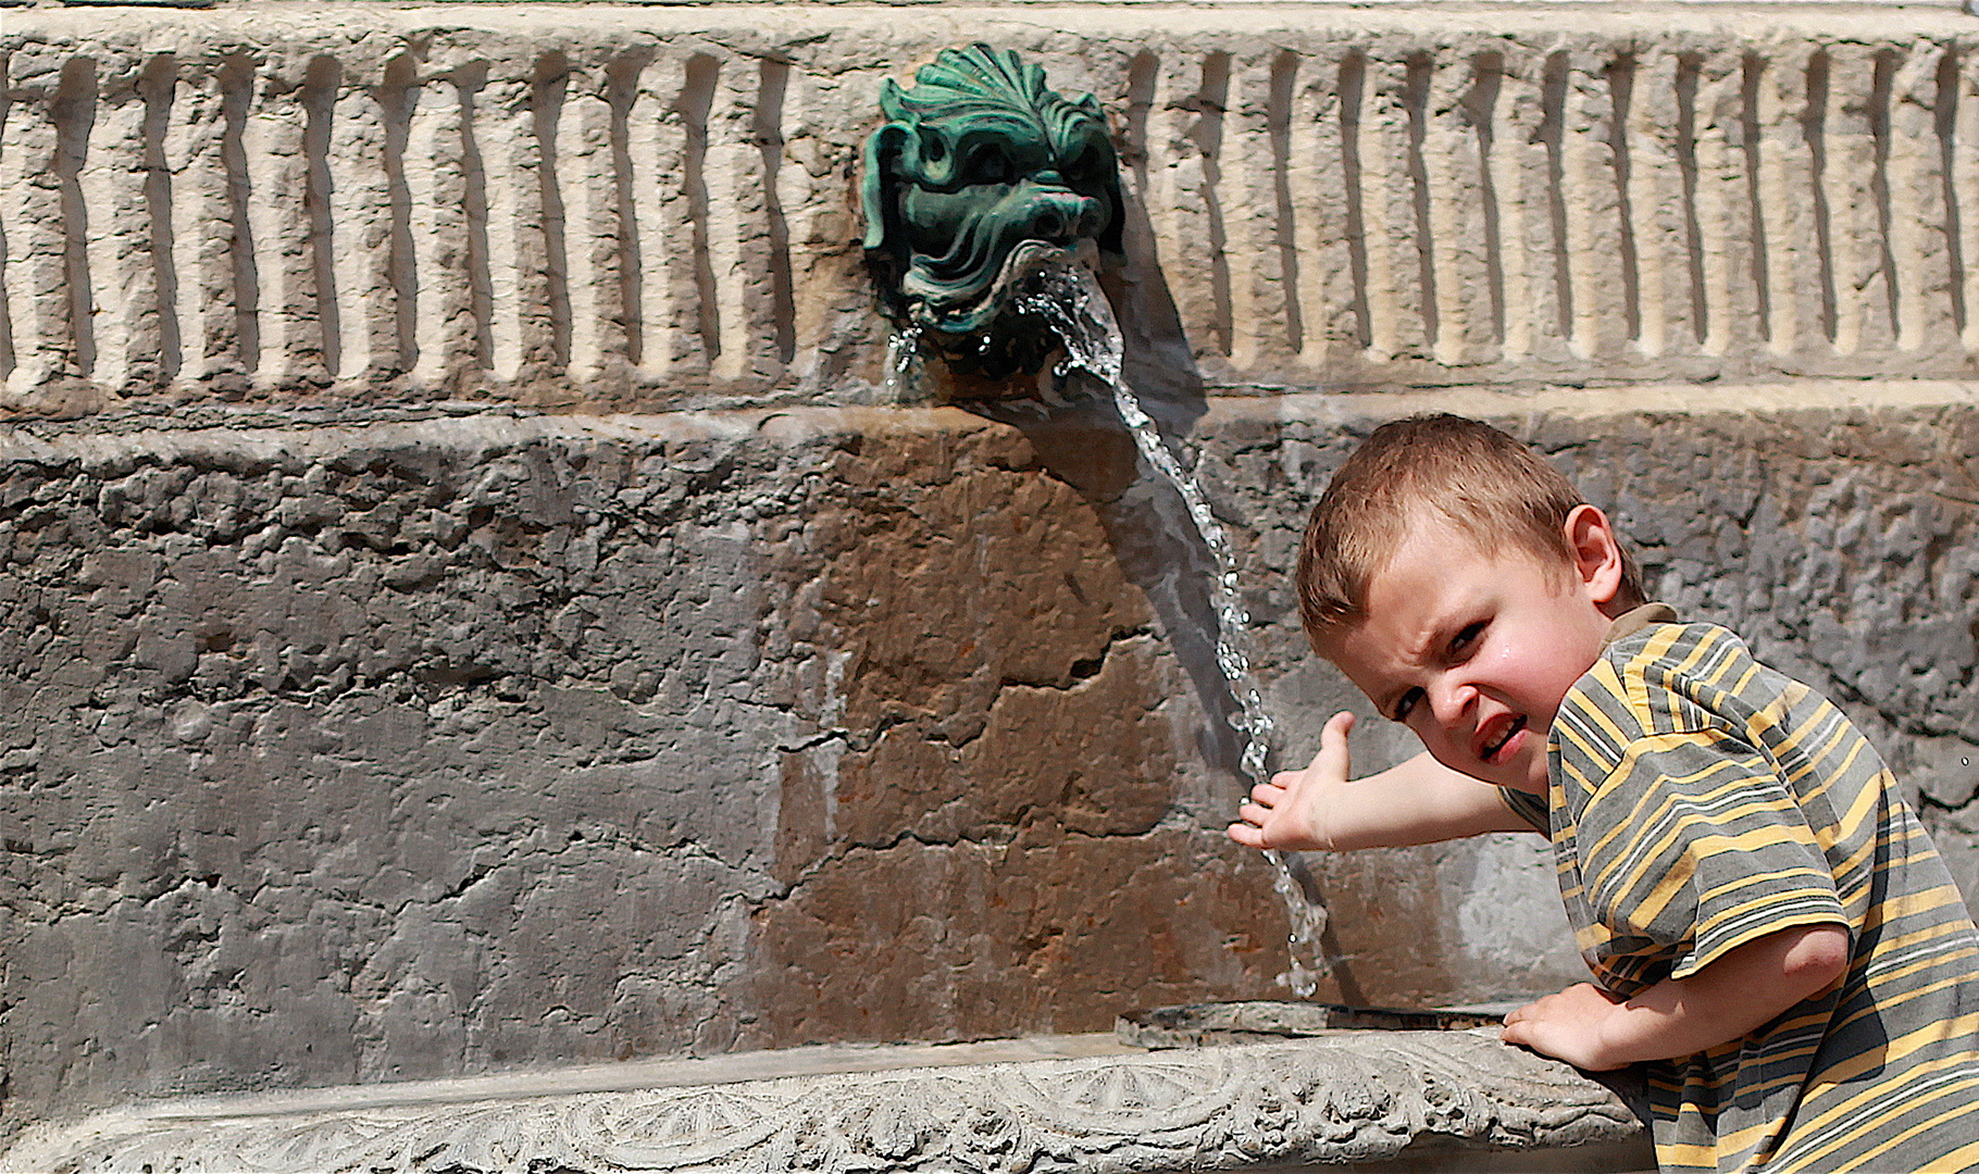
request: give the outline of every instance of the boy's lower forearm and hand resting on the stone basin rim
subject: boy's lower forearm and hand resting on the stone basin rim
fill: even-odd
[[[1848,930],[1799,925],[1631,1000],[1587,982],[1569,986],[1506,1016],[1502,1039],[1587,1071],[1692,1055],[1757,1029],[1846,970]]]

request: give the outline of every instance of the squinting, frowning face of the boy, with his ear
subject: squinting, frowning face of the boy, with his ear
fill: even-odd
[[[1601,655],[1621,562],[1601,511],[1583,505],[1567,527],[1571,564],[1524,546],[1480,550],[1423,511],[1369,580],[1367,618],[1322,651],[1437,762],[1546,794],[1546,734]]]

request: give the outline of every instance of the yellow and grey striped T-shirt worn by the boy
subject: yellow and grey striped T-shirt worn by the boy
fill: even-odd
[[[1627,998],[1840,925],[1850,966],[1751,1035],[1649,1065],[1656,1162],[1979,1170],[1979,932],[1951,873],[1835,705],[1664,618],[1619,620],[1554,719],[1544,822],[1581,956]]]

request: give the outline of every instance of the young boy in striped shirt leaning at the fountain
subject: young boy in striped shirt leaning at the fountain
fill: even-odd
[[[1455,416],[1387,424],[1334,475],[1300,620],[1427,746],[1251,792],[1251,847],[1540,830],[1595,984],[1504,1039],[1649,1063],[1664,1170],[1979,1170],[1979,932],[1862,734],[1710,624],[1643,604],[1609,519]]]

